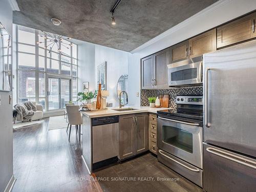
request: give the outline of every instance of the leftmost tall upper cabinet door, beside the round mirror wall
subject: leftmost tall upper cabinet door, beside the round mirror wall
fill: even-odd
[[[141,59],[141,88],[153,88],[153,55]]]

